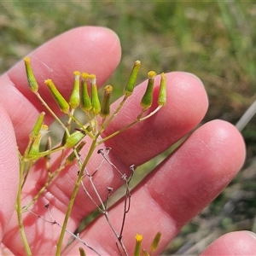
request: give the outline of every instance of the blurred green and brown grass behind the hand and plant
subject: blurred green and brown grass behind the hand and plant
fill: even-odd
[[[119,35],[123,55],[108,81],[113,86],[125,84],[139,59],[140,81],[152,69],[195,73],[210,101],[203,122],[236,124],[256,99],[254,1],[1,1],[0,72],[50,38],[86,25],[108,26]],[[122,87],[115,90],[116,97]],[[253,118],[242,131],[247,143],[242,172],[164,254],[196,254],[228,231],[255,230],[255,126]],[[161,158],[141,167],[137,178]]]

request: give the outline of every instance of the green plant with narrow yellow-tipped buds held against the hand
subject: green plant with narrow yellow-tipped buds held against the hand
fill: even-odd
[[[32,93],[34,93],[40,102],[44,105],[44,107],[49,111],[49,113],[54,117],[56,123],[61,126],[63,130],[63,137],[61,143],[54,148],[51,147],[51,139],[49,136],[49,127],[44,124],[44,115],[45,113],[40,113],[36,124],[33,126],[32,131],[29,134],[29,142],[27,144],[26,150],[24,154],[19,152],[20,158],[20,180],[19,180],[19,191],[16,201],[16,212],[18,216],[20,235],[22,237],[22,241],[26,250],[27,255],[32,255],[32,250],[29,245],[29,242],[26,238],[26,231],[24,221],[24,213],[28,212],[29,214],[36,215],[38,218],[42,218],[37,212],[31,210],[32,205],[38,201],[41,195],[43,195],[44,191],[47,189],[49,184],[69,165],[76,162],[78,166],[78,175],[77,180],[73,183],[73,192],[69,199],[69,203],[67,205],[67,212],[64,218],[63,223],[58,223],[55,220],[52,212],[50,211],[50,205],[47,204],[45,207],[49,213],[49,219],[42,218],[45,222],[49,224],[55,224],[60,227],[61,233],[59,240],[57,241],[56,253],[55,255],[61,255],[62,242],[65,234],[68,234],[73,239],[81,242],[81,246],[89,248],[91,251],[96,253],[96,255],[101,255],[97,248],[91,247],[86,241],[83,241],[79,234],[74,234],[73,232],[67,230],[67,222],[70,218],[70,214],[73,208],[73,203],[76,199],[76,195],[78,194],[79,188],[82,188],[84,191],[84,197],[89,197],[90,201],[96,206],[99,212],[101,212],[108,222],[111,230],[113,231],[114,236],[116,237],[115,244],[118,247],[119,255],[128,255],[127,250],[125,248],[125,244],[123,242],[123,231],[125,228],[125,217],[128,214],[131,208],[131,189],[129,184],[131,182],[131,177],[134,172],[134,166],[130,166],[131,175],[127,177],[127,175],[121,172],[117,166],[114,166],[111,160],[108,158],[108,153],[111,148],[104,148],[103,143],[107,140],[111,139],[115,135],[119,134],[122,131],[129,129],[132,125],[136,125],[139,122],[142,122],[145,119],[150,118],[154,113],[157,113],[160,108],[162,108],[166,104],[166,76],[164,73],[161,73],[160,79],[160,90],[158,96],[158,106],[153,111],[148,112],[148,108],[151,107],[153,102],[153,90],[154,90],[154,77],[156,73],[154,71],[148,72],[148,86],[147,89],[141,99],[141,112],[137,114],[137,119],[134,119],[130,124],[125,125],[118,131],[113,131],[112,134],[109,134],[107,137],[102,137],[102,132],[108,127],[114,117],[119,114],[119,110],[125,105],[125,102],[128,97],[132,96],[132,92],[134,90],[134,86],[137,80],[137,73],[139,67],[141,66],[140,61],[135,61],[134,67],[131,71],[131,76],[128,79],[128,82],[124,89],[124,96],[122,101],[119,103],[118,108],[114,110],[113,113],[110,111],[110,96],[113,90],[111,85],[107,85],[104,88],[104,93],[102,97],[102,102],[99,100],[98,90],[96,85],[96,75],[88,74],[88,73],[80,73],[79,71],[75,71],[73,73],[73,91],[67,101],[57,88],[55,87],[54,81],[51,79],[46,79],[44,84],[49,88],[51,95],[54,97],[56,104],[60,108],[61,112],[67,115],[67,122],[64,124],[61,119],[57,116],[57,114],[49,108],[47,102],[40,96],[39,88],[37,80],[35,79],[32,72],[32,65],[29,57],[24,59],[26,66],[26,76],[28,80],[28,84]],[[87,119],[87,124],[84,125],[84,121],[80,121],[74,115],[75,111],[80,108],[84,113],[84,116]],[[75,127],[72,129],[71,127]],[[45,148],[42,149],[41,139],[45,135],[48,136],[47,143],[45,144]],[[85,155],[81,155],[80,151],[84,147],[84,137],[90,137],[90,147]],[[98,149],[99,146],[102,148]],[[90,162],[92,154],[97,151],[98,154],[102,155],[102,163],[100,166],[96,168],[96,170],[89,170],[88,164]],[[57,154],[58,166],[51,166],[50,158],[51,155]],[[21,195],[22,189],[27,181],[27,177],[30,174],[30,170],[32,166],[38,161],[44,160],[45,162],[45,172],[47,173],[47,180],[42,185],[42,188],[38,190],[38,194],[35,195],[30,202],[27,202],[26,205],[22,205],[21,203]],[[98,189],[96,188],[96,184],[94,181],[94,177],[96,172],[99,172],[103,163],[107,163],[110,165],[114,172],[118,172],[121,180],[123,180],[125,184],[125,195],[124,195],[124,208],[123,208],[123,216],[120,223],[119,230],[113,228],[113,224],[111,220],[108,218],[108,200],[110,195],[113,192],[113,188],[107,187],[106,193],[107,200],[103,201],[101,195],[99,195]],[[53,170],[54,169],[54,170]],[[89,192],[89,189],[86,188],[84,180],[88,179],[90,183],[90,187],[92,188],[92,192]],[[142,235],[135,236],[135,247],[134,247],[134,255],[150,255],[150,253],[154,252],[158,243],[160,241],[160,232],[156,234],[154,237],[154,241],[148,250],[142,248]],[[79,247],[80,255],[86,255],[84,248]]]

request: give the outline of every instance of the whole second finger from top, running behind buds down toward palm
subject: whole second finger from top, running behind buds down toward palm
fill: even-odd
[[[207,94],[199,79],[189,73],[169,73],[166,75],[166,78],[168,87],[168,103],[166,106],[162,108],[152,120],[147,119],[142,124],[135,125],[131,128],[131,131],[124,131],[124,133],[109,140],[107,144],[107,146],[111,145],[113,148],[109,154],[109,159],[119,168],[120,172],[125,173],[129,171],[131,164],[140,165],[150,157],[160,154],[160,152],[193,129],[195,125],[201,121],[207,111]],[[127,102],[127,105],[125,105],[126,111],[124,109],[124,111],[113,119],[113,125],[109,126],[109,130],[106,131],[106,134],[107,132],[109,134],[112,129],[116,131],[116,129],[119,129],[119,125],[124,125],[124,122],[126,123],[131,119],[137,118],[139,112],[136,113],[136,106],[139,105],[139,101],[143,96],[144,85],[145,83],[137,87],[134,91],[134,96],[132,96]],[[159,79],[156,85],[159,85]],[[115,107],[116,105],[113,106],[113,108]],[[133,140],[132,143],[131,140]],[[127,147],[125,147],[125,145],[127,145]],[[149,147],[149,145],[152,145],[152,147]],[[82,159],[86,156],[89,148],[90,142],[88,141],[88,143],[85,144],[84,151],[81,152]],[[125,148],[125,151],[123,151],[123,148]],[[114,152],[114,154],[112,152]],[[136,157],[135,154],[137,154]],[[101,162],[102,156],[95,153],[92,155],[86,167],[90,173],[93,173],[97,167],[100,166]],[[52,170],[55,170],[56,166],[58,166],[57,161],[53,163]],[[44,209],[44,205],[49,202],[51,212],[53,212],[56,220],[61,224],[64,214],[67,211],[67,205],[73,192],[73,186],[78,171],[78,166],[73,165],[61,172],[61,175],[49,185],[42,199],[38,201],[32,209],[43,218],[49,218],[48,212]],[[26,201],[29,201],[29,197],[32,197],[32,195],[37,193],[38,189],[42,187],[45,183],[45,176],[47,177],[47,173],[44,171],[42,162],[39,162],[37,168],[32,172],[32,175],[28,177],[25,188],[25,195],[27,196]],[[102,201],[105,201],[108,195],[108,186],[115,190],[123,183],[119,173],[106,163],[99,172],[96,172],[93,181],[99,195],[102,197]],[[90,193],[95,195],[92,193],[93,189],[91,189],[91,185],[86,177],[84,178],[84,184]],[[94,209],[95,204],[84,194],[83,189],[80,189],[73,205],[68,230],[75,230],[81,219]],[[34,225],[36,225],[36,228]],[[55,226],[51,226],[51,232],[44,234],[44,221],[40,223],[39,221],[35,221],[34,225],[27,227],[27,232],[31,234],[32,244],[34,242],[38,244],[39,241],[44,244],[44,237],[47,241],[58,240],[60,230]],[[14,227],[15,223],[13,229],[15,229]],[[35,232],[35,230],[42,230],[43,234],[40,234],[40,240],[38,240],[38,232]],[[51,239],[49,239],[49,235]],[[20,247],[18,246],[18,241],[9,239],[8,242],[9,247],[15,247],[18,251],[20,250],[21,245]],[[40,253],[53,253],[54,251],[53,245],[48,245],[47,247],[43,247],[42,245],[40,248],[42,249]]]

